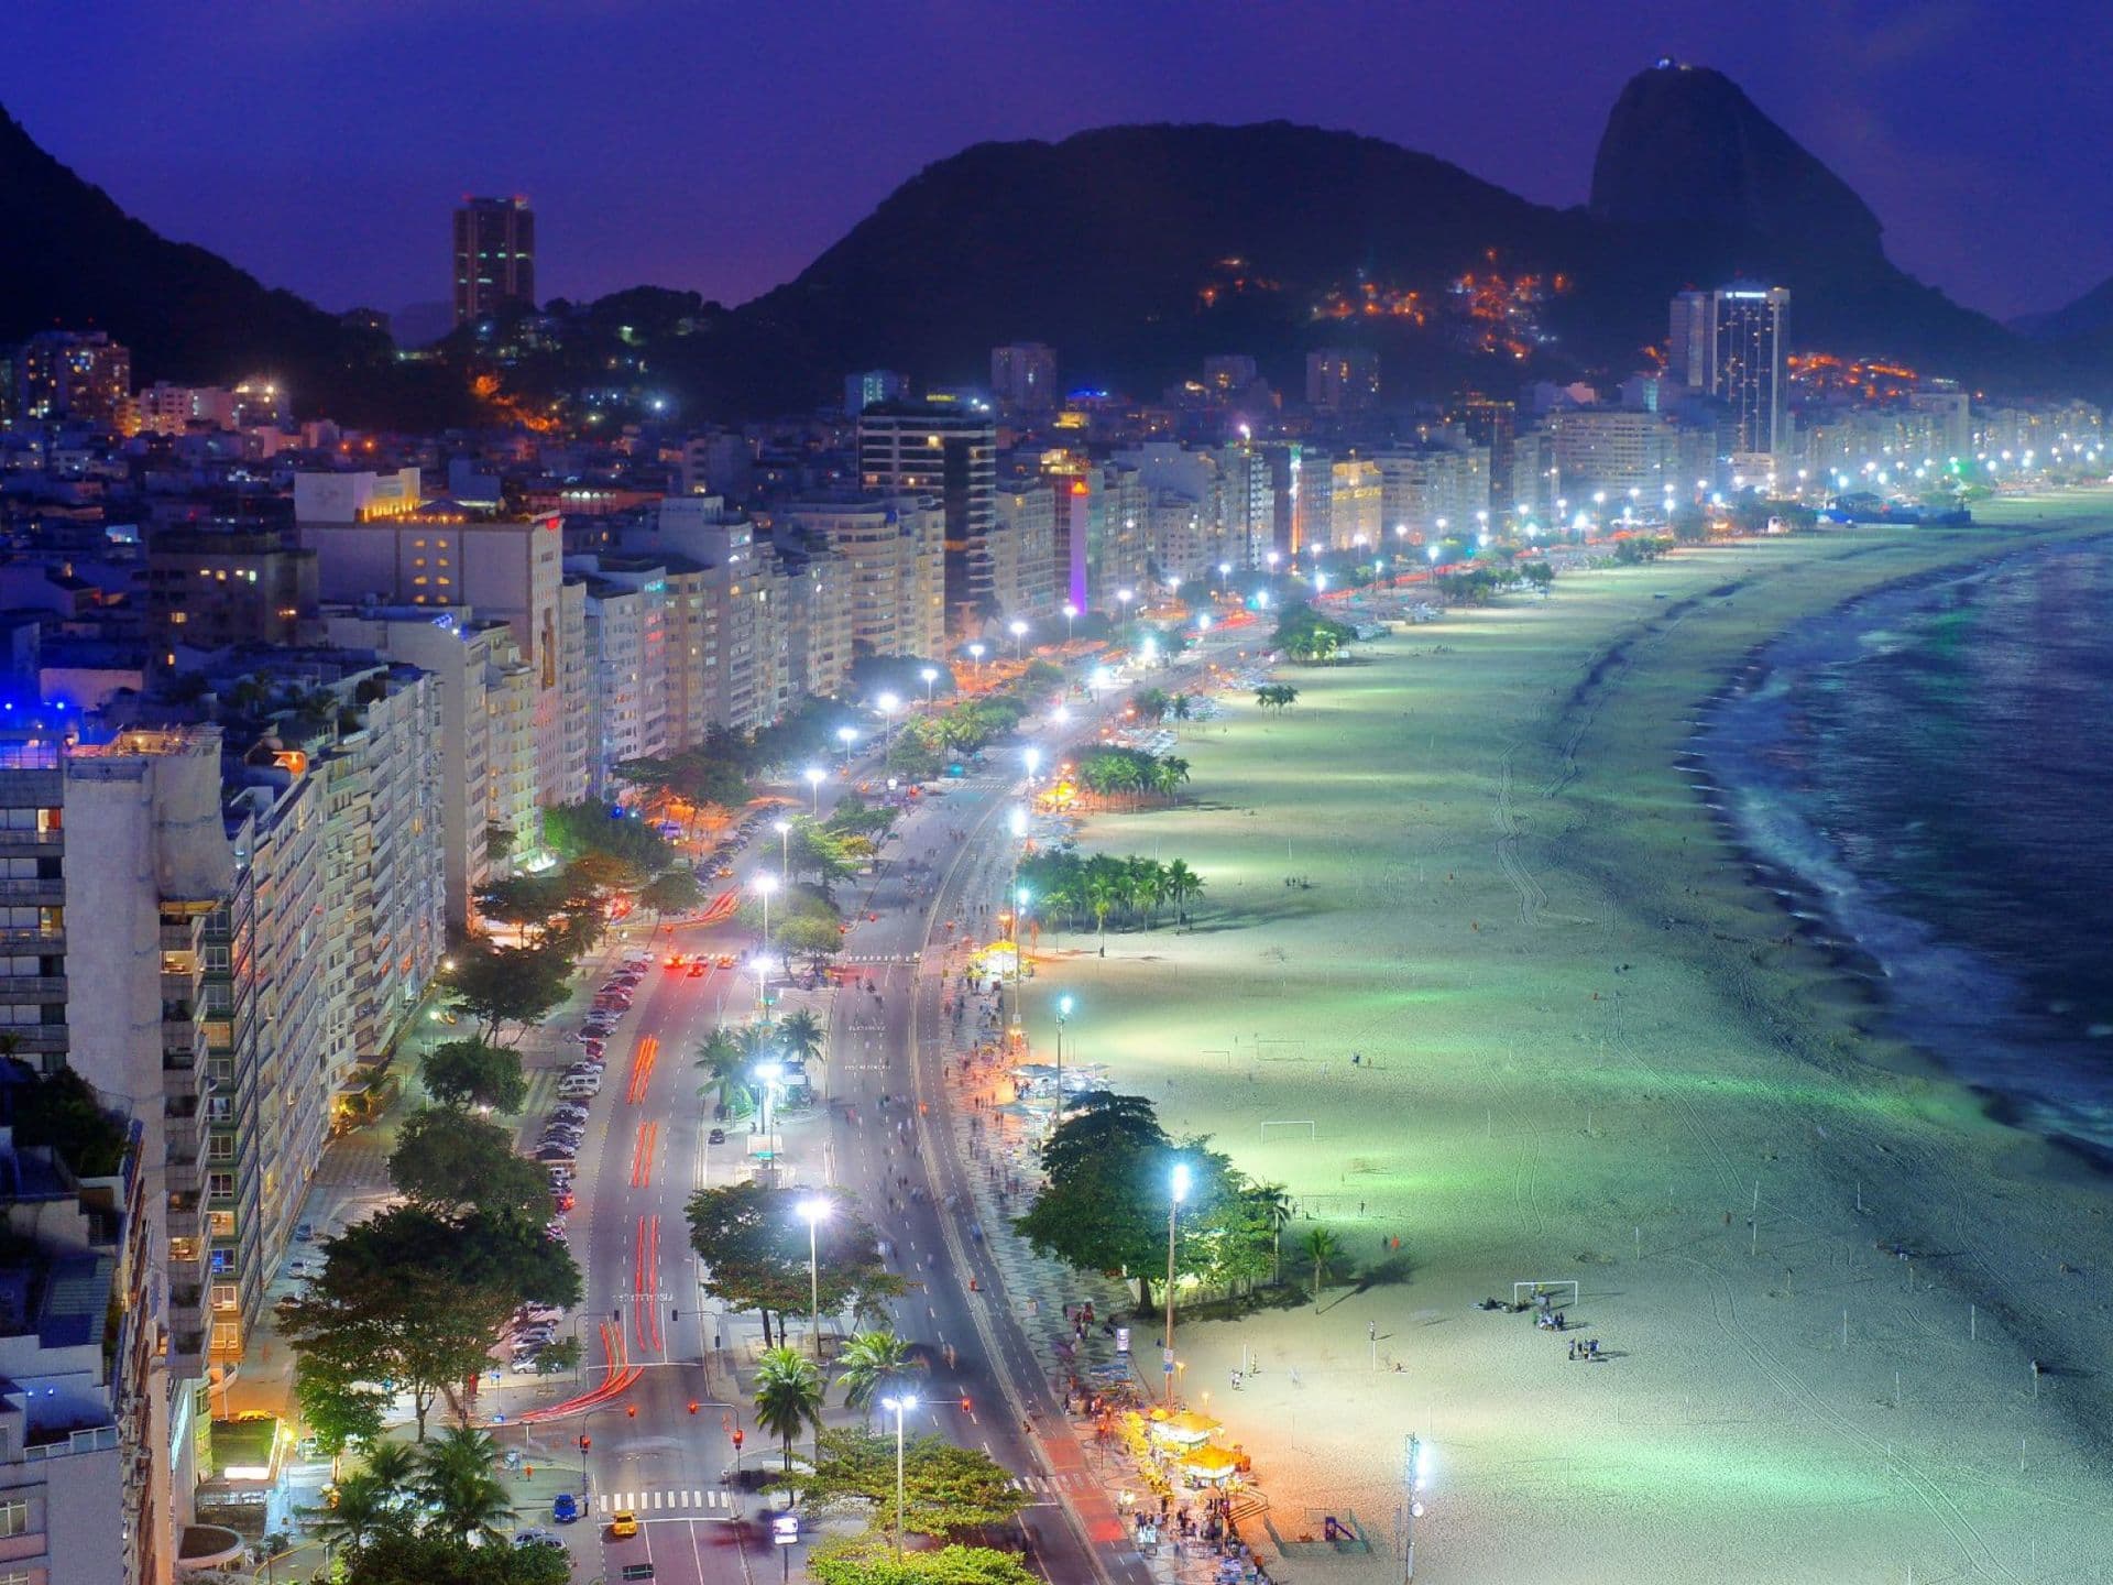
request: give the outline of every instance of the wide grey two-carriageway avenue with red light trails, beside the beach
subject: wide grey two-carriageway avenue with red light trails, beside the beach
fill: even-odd
[[[991,761],[1018,765],[1018,748],[995,746]],[[961,1226],[968,1213],[945,1211],[949,1196],[970,1200],[945,1122],[945,921],[966,924],[976,905],[1004,896],[1014,858],[1004,816],[1016,801],[1018,788],[999,776],[921,801],[898,822],[877,873],[856,894],[845,888],[843,900],[858,909],[845,962],[868,968],[873,991],[860,983],[830,997],[830,1099],[782,1129],[782,1171],[786,1181],[854,1190],[913,1281],[894,1317],[932,1361],[913,1435],[936,1431],[1014,1471],[1035,1503],[1018,1541],[1046,1579],[1143,1585],[1152,1574],[1088,1475],[1048,1367],[1006,1308],[995,1262]],[[750,864],[775,869],[773,847],[759,837]],[[911,896],[913,885],[921,896]],[[752,940],[740,926],[714,926],[685,930],[680,947],[737,953],[746,964]],[[693,1063],[721,1014],[744,1021],[754,997],[754,978],[742,970],[691,978],[655,964],[609,1042],[573,1211],[587,1293],[579,1391],[598,1401],[522,1426],[526,1458],[581,1471],[568,1486],[585,1494],[587,1517],[564,1532],[581,1579],[615,1581],[625,1566],[653,1564],[655,1581],[750,1585],[792,1572],[790,1553],[803,1551],[771,1558],[778,1549],[761,1515],[769,1503],[721,1481],[735,1462],[733,1424],[748,1431],[748,1467],[769,1456],[731,1374],[756,1321],[706,1308],[682,1217],[695,1188],[748,1171],[746,1129],[708,1143]],[[890,1194],[900,1209],[890,1209]],[[579,1437],[592,1446],[581,1450]],[[638,1515],[638,1536],[606,1532],[617,1509]]]

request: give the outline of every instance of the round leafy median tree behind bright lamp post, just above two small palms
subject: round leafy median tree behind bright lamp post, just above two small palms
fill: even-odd
[[[809,1306],[807,1222],[799,1207],[811,1194],[746,1181],[689,1198],[689,1241],[706,1264],[704,1291],[731,1310],[756,1310],[765,1338],[771,1317]],[[881,1264],[879,1238],[849,1192],[824,1196],[830,1209],[816,1232],[822,1314],[862,1312],[902,1293],[902,1279]]]

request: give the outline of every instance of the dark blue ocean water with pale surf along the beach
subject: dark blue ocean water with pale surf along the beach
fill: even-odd
[[[2113,1162],[2113,539],[1817,617],[1697,748],[1891,1031]]]

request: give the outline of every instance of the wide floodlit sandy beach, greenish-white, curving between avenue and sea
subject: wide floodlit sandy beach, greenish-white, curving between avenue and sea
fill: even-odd
[[[1874,1036],[1682,759],[1802,615],[2113,522],[2003,505],[2031,528],[1682,552],[1405,626],[1181,729],[1183,807],[1084,824],[1209,892],[1105,959],[1044,934],[1037,1048],[1076,995],[1067,1055],[1299,1196],[1287,1270],[1327,1226],[1369,1279],[1181,1329],[1274,1528],[1376,1541],[1278,1579],[1401,1577],[1409,1433],[1422,1581],[2107,1577],[2113,1186]],[[1475,1308],[1515,1281],[1574,1281],[1576,1331]]]

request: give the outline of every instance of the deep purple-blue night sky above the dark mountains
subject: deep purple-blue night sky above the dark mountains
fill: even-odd
[[[1118,120],[1348,127],[1581,203],[1661,53],[1737,78],[1961,302],[2113,275],[2113,27],[2086,0],[76,0],[11,8],[0,104],[332,309],[444,298],[469,190],[532,199],[543,296],[740,302],[932,158]]]

